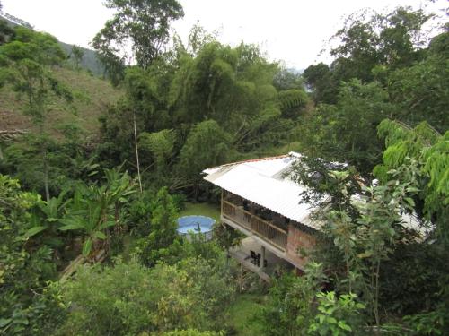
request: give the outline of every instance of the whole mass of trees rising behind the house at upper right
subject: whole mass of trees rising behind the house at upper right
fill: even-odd
[[[334,37],[341,42],[330,52],[336,56],[332,65],[304,71],[318,105],[301,128],[304,151],[367,174],[380,163],[384,147],[375,133],[383,118],[411,127],[427,121],[445,133],[448,32],[429,40],[424,25],[433,16],[398,8],[348,18]]]

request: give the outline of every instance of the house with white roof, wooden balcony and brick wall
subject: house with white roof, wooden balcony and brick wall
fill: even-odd
[[[289,174],[300,157],[290,152],[203,171],[222,189],[222,222],[247,237],[233,256],[265,280],[279,264],[303,271],[307,258],[299,252],[315,244],[321,227],[311,220],[311,205],[302,202],[304,185]]]

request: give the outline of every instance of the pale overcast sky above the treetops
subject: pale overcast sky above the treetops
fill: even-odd
[[[112,12],[101,0],[1,0],[4,13],[30,22],[70,44],[89,47]],[[219,30],[219,40],[231,45],[256,43],[272,60],[304,69],[317,61],[326,41],[341,26],[342,18],[363,8],[376,11],[397,5],[419,8],[420,0],[180,0],[185,16],[173,23],[185,39],[193,24]],[[433,7],[444,7],[438,0]]]

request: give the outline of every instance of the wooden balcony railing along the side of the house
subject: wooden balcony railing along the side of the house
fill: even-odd
[[[269,244],[286,251],[286,230],[278,228],[269,221],[262,220],[250,211],[245,211],[242,207],[225,200],[222,202],[222,215],[264,239]]]

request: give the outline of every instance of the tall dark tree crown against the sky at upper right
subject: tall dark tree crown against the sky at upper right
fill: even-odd
[[[428,42],[423,25],[432,15],[422,10],[398,7],[392,13],[366,17],[367,13],[351,15],[334,36],[341,43],[330,55],[337,57],[333,67],[340,72],[340,81],[354,77],[371,81],[376,65],[410,65],[418,59],[418,49]]]

